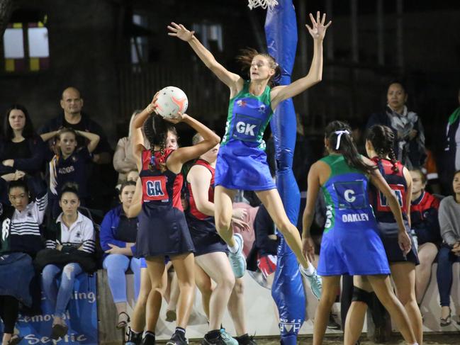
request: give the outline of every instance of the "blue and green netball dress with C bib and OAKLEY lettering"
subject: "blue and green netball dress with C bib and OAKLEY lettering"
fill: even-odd
[[[326,224],[318,274],[389,274],[385,249],[369,204],[369,179],[363,172],[350,168],[342,155],[331,154],[321,161],[330,166],[331,174],[322,186]]]

